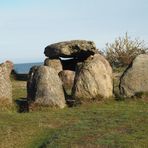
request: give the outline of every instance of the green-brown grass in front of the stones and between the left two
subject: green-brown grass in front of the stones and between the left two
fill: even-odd
[[[13,98],[26,97],[26,82],[13,81]],[[29,113],[0,112],[0,148],[147,148],[148,102],[93,103]]]

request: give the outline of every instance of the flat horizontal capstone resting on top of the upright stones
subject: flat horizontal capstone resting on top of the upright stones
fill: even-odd
[[[76,58],[86,59],[90,55],[98,53],[94,42],[85,40],[73,40],[55,43],[45,48],[45,56],[56,59],[63,58]]]

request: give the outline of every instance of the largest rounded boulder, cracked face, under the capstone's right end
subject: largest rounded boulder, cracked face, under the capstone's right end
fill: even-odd
[[[89,102],[112,96],[112,69],[101,55],[90,56],[78,65],[72,95],[80,102]]]

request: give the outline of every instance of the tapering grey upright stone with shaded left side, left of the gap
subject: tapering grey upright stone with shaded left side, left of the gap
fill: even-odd
[[[28,99],[36,105],[64,108],[64,91],[57,72],[48,66],[39,66],[32,71],[27,85],[28,96],[31,97]]]

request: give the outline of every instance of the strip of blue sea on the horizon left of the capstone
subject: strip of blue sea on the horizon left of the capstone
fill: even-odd
[[[32,66],[39,66],[43,65],[42,62],[37,62],[37,63],[21,63],[21,64],[14,64],[14,70],[18,74],[28,74],[29,70]]]

